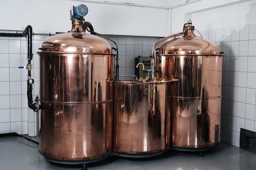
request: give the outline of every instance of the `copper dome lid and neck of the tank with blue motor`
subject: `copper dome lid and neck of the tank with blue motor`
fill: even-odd
[[[83,30],[83,20],[72,20],[72,30],[48,38],[38,53],[76,53],[113,55],[108,41]]]

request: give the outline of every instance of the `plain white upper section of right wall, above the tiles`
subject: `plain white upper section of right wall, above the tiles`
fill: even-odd
[[[199,0],[175,7],[172,9],[171,32],[181,32],[189,19],[197,30],[255,23],[255,3],[255,0]]]

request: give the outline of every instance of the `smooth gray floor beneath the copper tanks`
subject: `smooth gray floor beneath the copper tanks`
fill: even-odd
[[[38,140],[38,139],[36,139]],[[16,136],[0,137],[1,170],[81,170],[83,165],[52,163],[38,152],[39,146]],[[88,170],[256,170],[256,155],[221,143],[204,152],[168,150],[151,158],[108,158],[88,163]]]

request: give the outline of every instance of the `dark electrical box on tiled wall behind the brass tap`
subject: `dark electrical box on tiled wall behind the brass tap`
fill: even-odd
[[[142,77],[143,73],[142,73],[142,66],[139,65],[138,68],[136,68],[138,63],[143,63],[145,66],[145,77],[148,75],[148,69],[151,66],[151,60],[153,58],[152,57],[136,57],[135,58],[135,75],[138,77]]]

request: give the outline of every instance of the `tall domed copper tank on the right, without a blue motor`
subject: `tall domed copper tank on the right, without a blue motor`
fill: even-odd
[[[173,75],[178,79],[167,89],[173,147],[206,150],[219,144],[223,58],[219,46],[196,37],[194,26],[188,23],[182,33],[159,40],[153,53],[157,78],[168,80]]]

